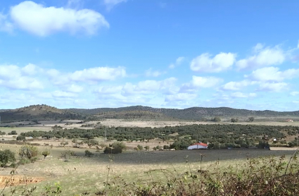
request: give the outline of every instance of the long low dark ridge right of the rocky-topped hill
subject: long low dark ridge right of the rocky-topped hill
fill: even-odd
[[[103,118],[106,116],[120,117],[120,114],[137,114],[141,111],[146,111],[151,114],[160,114],[164,118],[177,118],[184,120],[202,120],[203,118],[212,118],[214,116],[223,117],[249,117],[249,116],[265,116],[265,117],[279,117],[279,116],[298,116],[299,111],[254,111],[247,109],[232,109],[229,107],[205,108],[205,107],[191,107],[188,109],[156,109],[148,106],[128,106],[120,108],[98,108],[98,109],[67,109],[68,111],[77,112],[79,114],[93,114],[99,115]],[[148,114],[149,114],[148,113]]]

